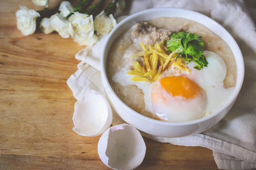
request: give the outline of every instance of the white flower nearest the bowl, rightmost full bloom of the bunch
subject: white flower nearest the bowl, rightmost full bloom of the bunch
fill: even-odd
[[[98,14],[94,19],[94,28],[97,35],[108,35],[108,33],[117,25],[112,14],[108,16],[105,15],[104,11]]]

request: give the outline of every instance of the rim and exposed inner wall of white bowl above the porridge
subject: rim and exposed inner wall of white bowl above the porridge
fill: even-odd
[[[129,108],[119,97],[114,94],[114,97],[116,97],[118,100],[121,101],[121,103],[125,106],[125,108],[129,109],[133,114],[140,114],[140,116],[144,119],[147,119],[148,121],[154,121],[158,122],[160,124],[169,124],[169,125],[189,125],[189,124],[196,124],[198,122],[202,122],[205,120],[208,120],[211,117],[216,116],[218,113],[223,111],[226,107],[228,107],[234,100],[236,100],[237,95],[240,92],[240,89],[242,87],[243,83],[243,76],[244,76],[244,63],[243,63],[243,57],[241,50],[239,46],[237,45],[237,42],[233,39],[233,37],[230,35],[228,31],[224,27],[222,27],[220,24],[215,22],[214,20],[210,19],[208,16],[205,16],[203,14],[200,14],[199,12],[191,11],[191,10],[185,10],[181,8],[152,8],[149,10],[144,10],[141,12],[137,12],[136,14],[130,15],[122,22],[118,23],[118,25],[110,32],[104,48],[102,50],[101,54],[101,74],[102,74],[102,81],[106,81],[107,88],[106,90],[110,90],[111,92],[114,93],[112,90],[112,87],[110,86],[108,76],[106,75],[106,61],[108,59],[108,53],[109,49],[112,46],[113,42],[128,28],[131,27],[136,22],[141,22],[144,20],[150,20],[154,18],[159,18],[159,17],[177,17],[177,18],[184,18],[184,19],[189,19],[193,20],[197,23],[203,24],[205,27],[210,29],[212,32],[216,33],[218,36],[221,37],[222,40],[224,40],[229,46],[230,49],[232,50],[234,54],[234,58],[237,63],[237,81],[236,81],[236,86],[233,95],[230,97],[230,99],[226,102],[224,107],[222,107],[218,112],[212,113],[209,116],[200,118],[198,120],[194,121],[188,121],[188,122],[163,122],[159,120],[154,120],[152,118],[148,118],[146,116],[143,116],[142,114],[133,111],[133,109]]]

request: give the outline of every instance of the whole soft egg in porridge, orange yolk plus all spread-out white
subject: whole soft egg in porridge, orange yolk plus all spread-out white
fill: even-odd
[[[233,88],[224,88],[226,65],[213,52],[204,52],[208,66],[193,69],[195,63],[188,64],[191,73],[176,73],[173,67],[163,73],[164,77],[151,91],[154,113],[163,121],[192,121],[220,109],[229,99]],[[179,75],[179,76],[169,76]]]

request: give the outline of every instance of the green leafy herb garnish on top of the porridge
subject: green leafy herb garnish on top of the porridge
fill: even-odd
[[[195,62],[194,68],[201,70],[207,67],[207,59],[203,56],[204,42],[202,37],[196,33],[177,32],[173,33],[166,42],[168,50],[179,53],[179,57],[184,57],[187,62]]]

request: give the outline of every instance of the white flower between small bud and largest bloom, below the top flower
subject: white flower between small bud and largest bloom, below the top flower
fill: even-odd
[[[59,13],[51,16],[50,23],[51,27],[57,31],[61,37],[67,39],[69,36],[73,36],[72,25]]]

